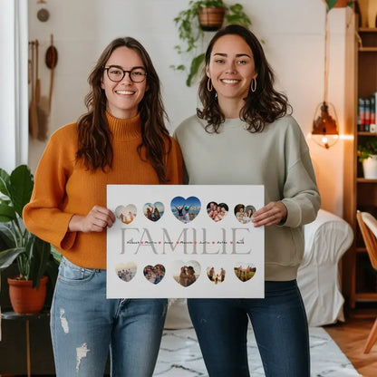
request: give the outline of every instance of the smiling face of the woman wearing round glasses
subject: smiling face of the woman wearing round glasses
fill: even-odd
[[[111,53],[105,67],[116,65],[124,71],[135,67],[144,67],[140,55],[128,47],[118,47]],[[107,72],[103,72],[102,89],[105,91],[106,110],[115,118],[129,119],[137,115],[139,103],[148,90],[147,80],[132,82],[130,74],[126,73],[121,82],[111,82]]]

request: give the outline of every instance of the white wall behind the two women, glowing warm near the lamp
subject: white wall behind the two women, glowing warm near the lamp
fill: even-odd
[[[252,19],[252,30],[266,41],[266,56],[276,73],[277,87],[287,93],[304,134],[311,131],[314,110],[324,93],[324,3],[321,0],[238,0]],[[49,0],[29,5],[30,39],[41,43],[43,96],[48,94],[50,72],[42,63],[50,34],[59,53],[55,70],[53,110],[49,134],[85,111],[87,77],[103,48],[118,36],[131,35],[149,51],[160,74],[170,119],[170,130],[191,115],[197,89],[185,85],[186,76],[170,64],[181,63],[173,18],[189,0]],[[229,0],[229,3],[236,1]],[[46,7],[51,16],[41,23],[36,12]],[[342,131],[344,88],[345,9],[333,9],[329,101],[335,105]],[[43,59],[42,59],[43,58]],[[334,67],[336,68],[336,71]],[[342,215],[343,145],[324,150],[308,140],[323,197],[323,208]],[[29,164],[34,170],[45,143],[32,140]]]

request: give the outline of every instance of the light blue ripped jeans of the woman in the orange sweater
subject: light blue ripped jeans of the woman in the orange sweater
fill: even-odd
[[[167,299],[106,299],[106,271],[63,258],[51,333],[57,377],[149,377],[160,349]]]

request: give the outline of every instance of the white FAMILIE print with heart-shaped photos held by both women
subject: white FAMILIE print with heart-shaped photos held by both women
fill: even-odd
[[[107,229],[107,297],[263,297],[264,227],[252,218],[264,191],[108,185],[116,221]]]

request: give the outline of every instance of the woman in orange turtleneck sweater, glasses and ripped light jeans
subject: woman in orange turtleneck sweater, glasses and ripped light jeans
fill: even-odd
[[[53,133],[24,208],[26,227],[63,254],[51,331],[58,377],[151,376],[166,299],[106,299],[107,184],[180,184],[159,77],[143,46],[112,41],[90,77],[88,112]]]

